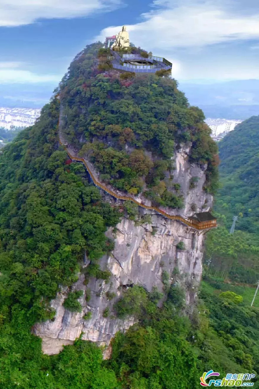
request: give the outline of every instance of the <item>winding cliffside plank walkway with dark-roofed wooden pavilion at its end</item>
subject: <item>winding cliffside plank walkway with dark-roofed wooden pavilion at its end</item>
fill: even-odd
[[[135,198],[133,198],[133,197],[118,195],[117,193],[115,193],[115,192],[111,191],[110,189],[108,189],[104,184],[99,182],[94,177],[93,172],[92,172],[92,170],[89,167],[89,163],[86,161],[85,158],[78,157],[73,152],[73,150],[71,148],[68,150],[68,148],[67,148],[68,144],[64,140],[60,130],[59,130],[59,144],[64,147],[64,149],[66,150],[67,155],[69,156],[69,158],[72,161],[83,163],[83,165],[85,166],[85,168],[86,168],[87,172],[89,173],[91,179],[93,180],[93,183],[97,187],[99,187],[100,189],[103,189],[106,193],[109,193],[109,195],[113,196],[114,198],[116,198],[118,200],[129,200],[129,201],[132,201],[133,203],[135,203],[139,207],[142,207],[142,208],[145,208],[145,209],[154,210],[155,212],[158,212],[159,214],[161,214],[164,217],[167,217],[168,219],[178,220],[181,223],[185,224],[186,226],[194,228],[195,230],[207,230],[209,228],[217,227],[217,220],[211,215],[210,212],[201,212],[199,214],[195,214],[194,216],[191,216],[191,217],[188,217],[188,218],[184,218],[184,217],[182,217],[180,215],[169,215],[169,214],[167,214],[166,212],[162,211],[161,209],[159,209],[157,207],[148,206],[148,205],[142,204],[142,203],[138,202],[137,200],[135,200]]]

